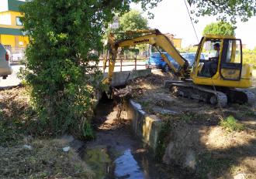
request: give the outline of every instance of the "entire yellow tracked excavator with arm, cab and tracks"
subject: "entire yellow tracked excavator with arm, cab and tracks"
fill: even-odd
[[[252,85],[252,66],[243,64],[242,43],[230,35],[206,35],[199,42],[192,69],[189,62],[181,56],[168,37],[157,29],[128,31],[127,35],[137,34],[132,39],[116,39],[115,34],[108,36],[108,56],[104,59],[103,68],[109,61],[108,77],[103,83],[111,84],[118,49],[121,47],[150,44],[160,47],[179,64],[176,69],[168,56],[160,49],[162,59],[181,80],[167,81],[165,86],[178,96],[202,100],[218,106],[227,103],[254,104],[254,93],[246,90]],[[215,54],[215,55],[214,55]]]

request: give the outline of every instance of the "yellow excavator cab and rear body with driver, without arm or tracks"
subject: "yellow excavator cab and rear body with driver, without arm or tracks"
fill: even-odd
[[[204,56],[204,59],[200,57]],[[243,64],[242,43],[233,36],[202,37],[191,77],[195,84],[247,88],[252,67]]]

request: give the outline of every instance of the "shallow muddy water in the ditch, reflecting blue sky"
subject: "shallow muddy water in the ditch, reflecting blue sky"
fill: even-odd
[[[116,121],[116,113],[112,101],[99,103],[94,119],[96,138],[86,144],[83,155],[95,178],[182,178],[157,164],[130,133],[129,123]]]

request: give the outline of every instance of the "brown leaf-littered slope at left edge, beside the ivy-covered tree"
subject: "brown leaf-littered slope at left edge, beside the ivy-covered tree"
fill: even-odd
[[[24,88],[2,90],[0,94],[0,146],[12,146],[30,132],[40,132],[40,126],[33,130],[31,128],[31,123],[36,123],[36,113],[29,106],[29,97]]]

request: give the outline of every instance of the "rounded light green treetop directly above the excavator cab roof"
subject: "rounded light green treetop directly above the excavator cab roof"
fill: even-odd
[[[203,29],[202,35],[234,35],[234,26],[228,22],[213,22],[206,25]]]

